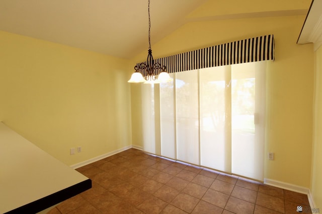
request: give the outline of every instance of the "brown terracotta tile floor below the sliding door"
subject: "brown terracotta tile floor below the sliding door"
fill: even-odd
[[[93,187],[48,213],[298,213],[307,195],[137,149],[76,169]]]

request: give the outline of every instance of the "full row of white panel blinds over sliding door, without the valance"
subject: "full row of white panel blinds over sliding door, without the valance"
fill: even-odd
[[[145,111],[143,126],[160,136],[143,134],[144,147],[156,153],[160,142],[162,156],[263,180],[265,68],[261,61],[179,72],[159,85],[159,94],[144,86],[142,100],[159,107],[143,106],[159,108],[159,121],[146,119]],[[153,95],[159,102],[151,101]]]

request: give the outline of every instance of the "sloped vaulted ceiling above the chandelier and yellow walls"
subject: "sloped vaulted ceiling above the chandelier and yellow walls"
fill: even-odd
[[[240,12],[238,4],[247,1],[256,8]],[[310,0],[231,2],[151,0],[151,44],[186,22],[306,15]],[[195,9],[204,17],[194,16]],[[131,58],[148,48],[147,0],[0,0],[0,30]]]

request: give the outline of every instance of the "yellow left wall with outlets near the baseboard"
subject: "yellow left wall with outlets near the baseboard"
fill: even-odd
[[[127,60],[6,32],[0,47],[0,121],[68,165],[131,145]]]

